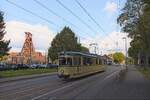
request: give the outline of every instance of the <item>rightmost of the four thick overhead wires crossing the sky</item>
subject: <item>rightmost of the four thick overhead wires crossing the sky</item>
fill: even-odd
[[[81,3],[78,0],[75,0],[75,2],[83,9],[83,11],[90,17],[90,19],[105,33],[101,25],[90,15],[90,13],[81,5]]]

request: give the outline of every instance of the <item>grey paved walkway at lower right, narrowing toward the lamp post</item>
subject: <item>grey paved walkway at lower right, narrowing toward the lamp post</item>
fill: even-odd
[[[150,100],[150,80],[134,66],[128,66],[121,76],[112,79],[100,94],[103,99]]]

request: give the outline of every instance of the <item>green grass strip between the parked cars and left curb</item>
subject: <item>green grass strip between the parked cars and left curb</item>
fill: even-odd
[[[0,78],[7,77],[16,77],[16,76],[25,76],[25,75],[34,75],[34,74],[43,74],[43,73],[51,73],[56,72],[57,69],[22,69],[22,70],[8,70],[8,71],[0,71]]]

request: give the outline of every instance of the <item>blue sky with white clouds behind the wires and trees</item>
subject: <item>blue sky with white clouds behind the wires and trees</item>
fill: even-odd
[[[87,16],[75,0],[60,1],[87,25],[63,8],[57,0],[37,1],[44,4],[45,7],[60,17],[50,13],[34,0],[9,1],[41,17],[34,16],[10,4],[7,0],[0,0],[0,10],[5,13],[4,17],[7,31],[5,38],[11,40],[11,51],[21,51],[25,39],[24,32],[31,32],[33,34],[33,42],[36,50],[45,52],[50,46],[54,36],[60,32],[64,26],[69,26],[76,33],[78,38],[80,38],[82,45],[89,47],[89,44],[97,43],[99,54],[111,53],[116,50],[124,52],[124,41],[122,37],[127,36],[127,34],[120,32],[116,23],[116,18],[119,13],[117,6],[119,0],[78,0],[100,27]],[[120,8],[123,7],[125,1],[126,0],[120,0]],[[90,26],[90,28],[87,26]],[[117,41],[118,46],[116,45]],[[128,39],[128,47],[129,41],[130,39]],[[93,49],[90,48],[90,51],[92,52]]]

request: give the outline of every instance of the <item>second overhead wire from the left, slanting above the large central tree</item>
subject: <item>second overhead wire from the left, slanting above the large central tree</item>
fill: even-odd
[[[59,14],[57,14],[56,12],[54,12],[53,10],[51,10],[50,8],[46,7],[43,3],[39,2],[38,0],[33,0],[35,1],[38,5],[40,5],[41,7],[43,7],[44,9],[46,9],[47,11],[49,11],[50,13],[52,13],[53,15],[59,17],[60,19],[62,19],[63,21],[69,23],[70,25],[74,26],[75,28],[81,30],[81,28],[79,28],[78,26],[76,26],[75,24],[73,24],[72,22],[68,21],[67,19],[65,19],[64,17],[60,16]],[[81,30],[83,32],[83,30]],[[85,33],[85,32],[83,32]]]

